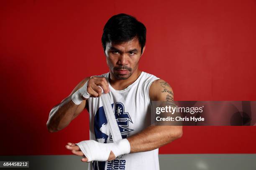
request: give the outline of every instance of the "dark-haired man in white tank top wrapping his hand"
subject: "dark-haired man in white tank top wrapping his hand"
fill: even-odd
[[[111,17],[102,34],[110,72],[84,78],[50,112],[47,128],[56,132],[87,108],[90,140],[68,143],[66,148],[83,156],[89,170],[158,170],[158,148],[182,136],[182,126],[151,125],[150,102],[173,102],[173,91],[164,80],[138,69],[145,43],[146,27],[136,18],[127,14]],[[123,138],[115,143],[100,100],[102,89],[110,96]]]

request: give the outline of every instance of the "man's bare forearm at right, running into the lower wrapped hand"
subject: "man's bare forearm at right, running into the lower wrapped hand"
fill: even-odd
[[[154,150],[182,136],[182,126],[148,126],[128,141],[131,153]]]

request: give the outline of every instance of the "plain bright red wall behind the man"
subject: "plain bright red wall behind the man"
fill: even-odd
[[[175,100],[256,100],[256,1],[0,2],[1,155],[70,154],[89,139],[88,113],[48,133],[51,108],[84,77],[108,72],[101,35],[127,13],[147,28],[140,69]],[[256,128],[184,127],[160,153],[256,153]]]

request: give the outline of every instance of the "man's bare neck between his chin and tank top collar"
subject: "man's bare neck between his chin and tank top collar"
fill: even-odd
[[[116,79],[112,72],[110,72],[109,83],[115,90],[123,90],[129,85],[133,84],[137,78],[141,75],[141,70],[136,70],[133,74],[125,80]]]

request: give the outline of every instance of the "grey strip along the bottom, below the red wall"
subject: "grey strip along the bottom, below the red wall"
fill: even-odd
[[[29,161],[23,170],[87,170],[75,155],[0,156],[0,161]],[[256,170],[256,154],[159,155],[160,170]],[[0,170],[19,168],[0,168]]]

